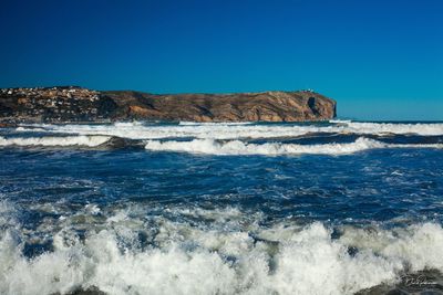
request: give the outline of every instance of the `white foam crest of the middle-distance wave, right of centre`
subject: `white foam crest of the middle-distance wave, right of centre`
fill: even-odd
[[[378,140],[360,137],[350,144],[324,144],[324,145],[296,145],[281,143],[247,144],[240,140],[218,141],[214,139],[194,139],[192,141],[159,141],[148,140],[148,150],[182,151],[193,154],[210,155],[347,155],[367,149],[377,148],[443,148],[443,145],[393,145]]]

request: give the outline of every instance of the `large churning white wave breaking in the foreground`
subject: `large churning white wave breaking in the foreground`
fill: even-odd
[[[443,271],[443,229],[435,223],[346,226],[333,238],[320,222],[265,226],[262,214],[235,208],[165,209],[181,221],[134,210],[107,215],[85,208],[59,219],[52,250],[33,257],[22,254],[32,239],[18,225],[2,230],[0,293],[353,294],[395,284],[405,272]],[[79,220],[91,222],[84,238],[72,230]]]

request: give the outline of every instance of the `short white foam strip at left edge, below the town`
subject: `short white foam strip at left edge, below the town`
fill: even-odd
[[[96,147],[107,140],[110,136],[43,136],[43,137],[1,137],[0,146],[85,146],[85,147]]]

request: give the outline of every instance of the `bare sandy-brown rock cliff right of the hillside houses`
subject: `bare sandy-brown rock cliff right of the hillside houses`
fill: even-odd
[[[119,118],[189,122],[302,122],[336,117],[336,102],[313,92],[156,95],[104,92],[119,109]],[[117,113],[119,113],[117,112]]]

